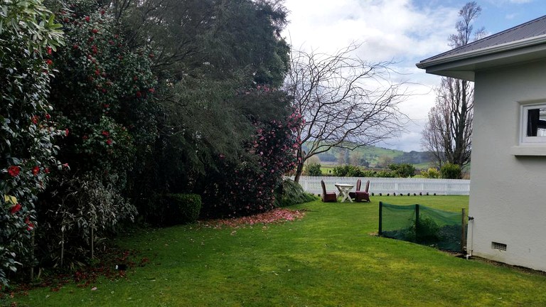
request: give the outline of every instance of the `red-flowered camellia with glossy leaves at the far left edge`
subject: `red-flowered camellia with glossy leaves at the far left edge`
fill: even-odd
[[[60,25],[41,1],[0,5],[0,283],[32,266],[36,199],[51,173],[68,168],[55,154],[58,129],[48,103],[51,56]]]

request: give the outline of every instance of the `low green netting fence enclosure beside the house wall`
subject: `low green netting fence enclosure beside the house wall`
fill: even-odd
[[[452,252],[466,246],[465,212],[448,212],[424,205],[379,203],[379,235]]]

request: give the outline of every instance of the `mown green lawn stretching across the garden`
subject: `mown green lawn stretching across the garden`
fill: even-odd
[[[140,231],[116,243],[150,263],[127,279],[34,289],[17,306],[544,306],[546,276],[453,257],[377,232],[378,201],[459,212],[468,196],[297,205],[303,220]],[[96,291],[91,287],[96,286]],[[10,303],[6,301],[5,303]]]

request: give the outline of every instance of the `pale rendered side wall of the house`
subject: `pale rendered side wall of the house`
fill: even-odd
[[[519,102],[537,99],[546,103],[546,61],[476,72],[467,248],[546,271],[546,156],[510,154],[519,140]]]

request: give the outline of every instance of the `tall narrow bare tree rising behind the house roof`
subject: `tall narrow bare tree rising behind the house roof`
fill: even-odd
[[[459,48],[485,35],[483,28],[473,31],[472,23],[481,13],[475,1],[459,11],[456,34],[449,36],[449,45]],[[422,146],[431,151],[439,166],[454,163],[461,167],[470,162],[472,143],[473,83],[442,77],[437,89],[436,104],[429,111],[429,121],[422,131]]]

